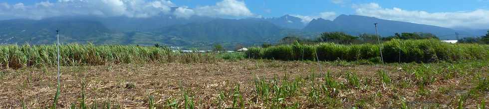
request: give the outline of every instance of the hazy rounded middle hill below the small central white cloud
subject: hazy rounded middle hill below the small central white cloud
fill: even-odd
[[[281,38],[280,31],[280,27],[263,20],[215,19],[164,27],[154,32],[165,36],[179,36],[188,41],[262,42]]]

